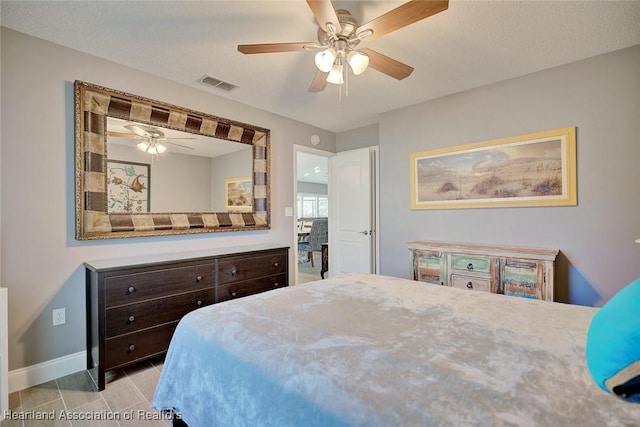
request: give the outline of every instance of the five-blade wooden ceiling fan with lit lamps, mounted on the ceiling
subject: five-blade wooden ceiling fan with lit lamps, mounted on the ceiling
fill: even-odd
[[[346,64],[355,75],[361,74],[370,66],[398,80],[408,77],[413,72],[413,67],[375,50],[356,47],[362,41],[374,40],[449,7],[448,0],[411,0],[360,25],[349,11],[334,9],[330,0],[307,0],[307,4],[319,24],[317,43],[241,44],[238,45],[238,51],[254,54],[319,50],[315,57],[318,72],[309,92],[321,92],[327,83],[344,83]]]

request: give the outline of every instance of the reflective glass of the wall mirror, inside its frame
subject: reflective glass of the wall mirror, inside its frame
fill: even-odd
[[[251,145],[107,118],[109,214],[250,211],[250,194],[228,197],[252,168]]]

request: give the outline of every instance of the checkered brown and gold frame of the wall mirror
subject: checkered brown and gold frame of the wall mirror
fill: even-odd
[[[76,239],[112,239],[270,228],[270,130],[76,81]],[[107,117],[253,146],[251,212],[107,213]]]

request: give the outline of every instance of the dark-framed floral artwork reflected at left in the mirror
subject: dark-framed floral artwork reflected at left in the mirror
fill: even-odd
[[[148,163],[107,160],[107,212],[150,212],[150,175]]]

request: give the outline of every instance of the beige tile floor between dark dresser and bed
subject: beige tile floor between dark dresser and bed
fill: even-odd
[[[159,358],[109,372],[101,392],[97,369],[91,369],[11,393],[13,416],[0,427],[170,426],[150,403],[162,362]]]

